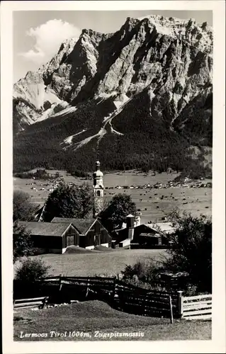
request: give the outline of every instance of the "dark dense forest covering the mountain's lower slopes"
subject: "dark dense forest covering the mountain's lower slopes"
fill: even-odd
[[[207,101],[208,100],[208,104]],[[186,106],[189,119],[184,122],[183,110],[171,125],[171,109],[159,107],[162,117],[149,111],[149,95],[142,91],[112,120],[113,129],[123,135],[107,132],[99,141],[91,139],[79,149],[77,142],[96,135],[103,118],[113,112],[111,99],[96,104],[80,105],[67,118],[50,118],[30,125],[26,132],[14,135],[14,173],[37,167],[66,169],[69,172],[93,171],[98,154],[103,170],[141,169],[142,171],[181,171],[193,178],[211,176],[204,166],[203,146],[212,146],[212,96]],[[95,108],[95,109],[94,109]],[[72,147],[63,149],[63,139],[77,132]],[[194,159],[191,146],[200,149]]]

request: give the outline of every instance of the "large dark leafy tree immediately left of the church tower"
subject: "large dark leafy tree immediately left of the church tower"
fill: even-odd
[[[93,190],[87,185],[61,183],[47,198],[43,221],[51,222],[54,217],[89,217],[93,209]]]

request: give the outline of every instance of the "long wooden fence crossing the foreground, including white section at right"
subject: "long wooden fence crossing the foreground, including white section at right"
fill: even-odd
[[[34,283],[13,282],[14,307],[98,299],[111,307],[143,316],[211,319],[212,295],[183,297],[182,291],[147,290],[116,277],[48,277]],[[26,301],[25,301],[26,300]]]

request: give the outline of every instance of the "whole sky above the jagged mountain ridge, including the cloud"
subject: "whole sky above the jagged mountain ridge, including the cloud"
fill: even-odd
[[[13,82],[52,59],[68,38],[83,28],[101,33],[119,30],[126,18],[161,15],[213,25],[212,11],[14,11]]]

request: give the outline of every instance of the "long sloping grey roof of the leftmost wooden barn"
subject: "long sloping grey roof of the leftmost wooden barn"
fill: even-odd
[[[36,236],[62,236],[69,224],[70,222],[18,222],[18,226],[25,226],[31,235]]]

